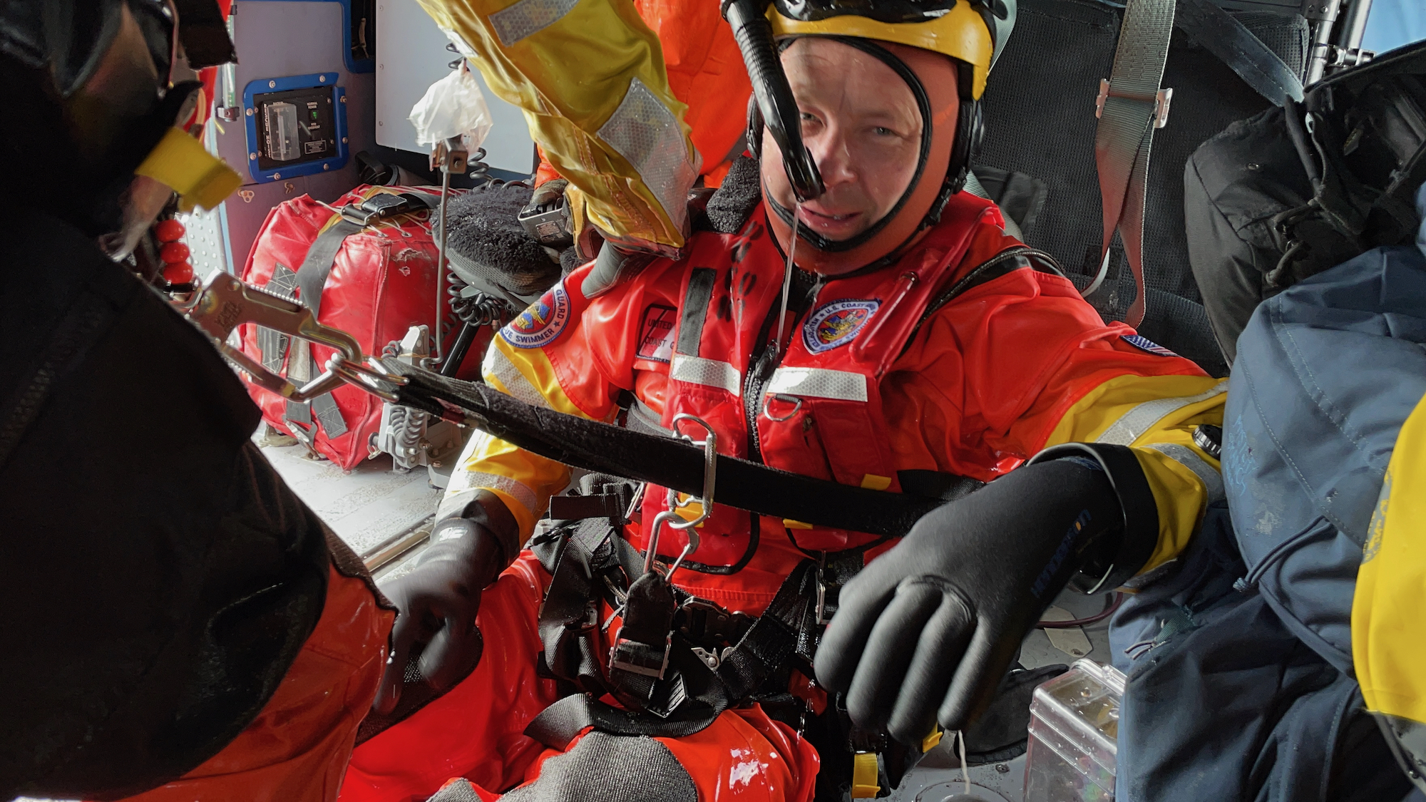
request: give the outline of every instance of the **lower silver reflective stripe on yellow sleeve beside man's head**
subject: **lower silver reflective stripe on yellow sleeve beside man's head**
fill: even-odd
[[[597,136],[629,160],[669,220],[682,230],[689,218],[689,187],[696,171],[673,111],[643,81],[630,78],[623,101]]]

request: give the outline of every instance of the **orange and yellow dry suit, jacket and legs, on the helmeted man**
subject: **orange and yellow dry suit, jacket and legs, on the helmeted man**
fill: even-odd
[[[720,454],[901,492],[991,481],[1061,442],[1128,445],[1158,507],[1145,569],[1178,554],[1209,488],[1221,488],[1216,461],[1192,434],[1221,421],[1224,385],[1127,325],[1104,324],[1052,260],[1004,234],[990,201],[954,196],[940,224],[884,267],[799,273],[790,298],[804,303],[790,304],[786,355],[770,370],[784,261],[760,207],[736,233],[697,233],[684,258],[656,258],[603,291],[586,293],[586,265],[502,330],[485,380],[529,404],[645,431],[692,414],[716,431]],[[687,421],[680,431],[703,437]],[[569,477],[565,465],[478,432],[438,515],[491,491],[529,535]],[[625,532],[636,548],[665,499],[647,488],[643,524]],[[809,555],[871,559],[891,545],[720,505],[697,532],[673,585],[749,616],[764,612]],[[682,532],[663,531],[662,559],[684,544]],[[424,799],[455,776],[482,799],[520,785],[535,786],[520,798],[579,788],[579,776],[616,776],[627,792],[620,798],[810,799],[816,752],[757,705],[734,704],[704,729],[656,736],[655,746],[589,726],[569,743],[526,735],[569,694],[539,659],[549,584],[525,552],[483,592],[475,672],[359,746],[345,802]],[[605,661],[619,622],[607,605],[597,618],[590,652]],[[660,766],[665,785],[617,771],[620,755]],[[682,766],[674,779],[670,766]]]

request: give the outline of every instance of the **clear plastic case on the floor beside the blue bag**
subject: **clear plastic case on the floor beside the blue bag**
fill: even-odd
[[[1035,688],[1025,802],[1111,802],[1124,675],[1089,659]]]

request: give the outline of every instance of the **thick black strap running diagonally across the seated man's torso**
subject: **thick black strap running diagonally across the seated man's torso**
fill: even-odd
[[[482,384],[376,360],[408,384],[398,402],[461,420],[512,445],[566,465],[655,482],[679,492],[703,492],[703,451],[687,442],[523,404]],[[866,489],[717,457],[717,502],[774,518],[873,535],[901,537],[938,498]]]

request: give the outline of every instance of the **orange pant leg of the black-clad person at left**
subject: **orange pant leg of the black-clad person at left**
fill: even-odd
[[[376,695],[395,614],[331,569],[327,604],[277,694],[221,752],[130,802],[331,802]]]

